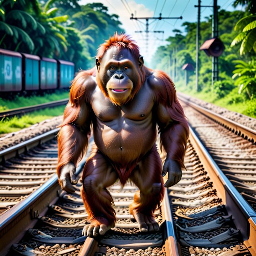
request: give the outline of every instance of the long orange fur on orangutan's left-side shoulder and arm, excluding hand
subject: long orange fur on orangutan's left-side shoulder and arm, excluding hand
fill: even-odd
[[[65,107],[63,123],[58,133],[58,177],[60,177],[61,167],[68,162],[73,162],[74,165],[77,165],[88,147],[91,120],[89,118],[86,122],[79,123],[78,117],[81,105],[86,100],[85,80],[94,72],[95,69],[79,72],[71,85],[70,99]]]

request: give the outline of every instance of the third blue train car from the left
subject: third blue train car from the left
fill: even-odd
[[[40,89],[57,88],[57,60],[42,57],[40,61]]]

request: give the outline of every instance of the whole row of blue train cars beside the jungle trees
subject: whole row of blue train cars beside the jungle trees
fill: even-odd
[[[70,87],[74,63],[0,49],[0,95]]]

